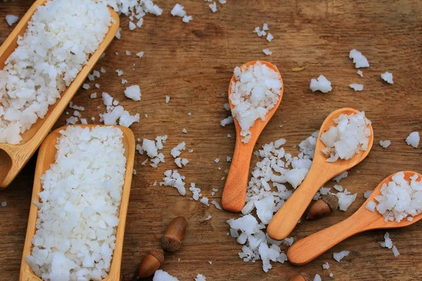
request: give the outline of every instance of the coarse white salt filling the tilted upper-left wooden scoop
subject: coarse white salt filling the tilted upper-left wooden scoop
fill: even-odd
[[[101,44],[111,20],[104,4],[90,0],[51,0],[37,8],[0,70],[0,143],[20,143],[20,133],[45,117]],[[75,22],[84,32],[76,32]]]

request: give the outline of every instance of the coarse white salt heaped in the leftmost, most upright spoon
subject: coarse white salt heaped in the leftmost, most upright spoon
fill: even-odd
[[[241,126],[242,142],[248,143],[251,137],[250,127],[257,119],[265,121],[265,115],[279,100],[283,84],[279,72],[260,61],[248,67],[236,67],[234,78],[229,96],[231,105],[234,106],[231,113]]]

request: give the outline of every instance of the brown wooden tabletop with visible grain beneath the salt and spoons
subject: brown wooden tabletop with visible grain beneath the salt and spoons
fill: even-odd
[[[22,16],[31,3],[1,3],[0,18],[9,13]],[[421,172],[421,147],[411,148],[404,139],[411,131],[422,132],[422,2],[229,0],[224,6],[217,4],[219,10],[211,13],[205,1],[186,0],[180,3],[193,15],[188,24],[170,15],[176,1],[157,3],[164,8],[163,15],[147,15],[141,29],[130,32],[128,19],[122,17],[122,39],[113,41],[106,58],[95,67],[107,70],[96,81],[101,89],[92,89],[91,82],[90,90],[82,89],[74,98],[76,105],[85,107],[83,117],[98,120],[105,108],[101,98],[90,99],[89,95],[106,91],[132,114],[141,114],[141,122],[132,125],[136,138],[169,136],[163,150],[167,161],[158,169],[141,166],[145,156],[136,155],[122,280],[131,280],[146,252],[160,247],[167,223],[180,215],[188,220],[184,245],[174,254],[167,254],[162,266],[179,280],[193,280],[198,273],[207,280],[288,280],[301,272],[319,273],[323,280],[331,280],[331,272],[334,280],[421,280],[421,223],[389,231],[400,251],[398,258],[390,249],[380,247],[385,231],[378,230],[340,243],[307,266],[274,263],[274,268],[264,273],[260,261],[244,263],[239,259],[241,245],[226,235],[226,220],[237,218],[237,214],[205,207],[189,200],[189,196],[181,197],[177,190],[153,186],[153,182],[162,180],[163,171],[177,168],[170,149],[185,141],[194,150],[184,152],[190,162],[179,169],[187,185],[196,183],[203,195],[220,202],[224,186],[221,178],[226,176],[229,163],[217,164],[214,159],[231,155],[235,141],[226,138],[227,133],[234,136],[234,126],[222,128],[219,124],[228,116],[222,107],[227,101],[224,93],[234,67],[257,59],[276,64],[285,82],[283,101],[264,130],[260,145],[283,137],[288,140],[286,150],[295,155],[298,150],[294,146],[319,129],[324,118],[339,107],[364,110],[375,131],[376,144],[369,157],[341,182],[344,188],[358,192],[356,202],[346,212],[336,211],[320,221],[303,221],[293,231],[295,240],[350,216],[364,202],[364,191],[374,188],[385,176],[401,170]],[[274,35],[271,43],[252,33],[263,22],[268,22]],[[0,41],[12,30],[3,20]],[[262,53],[267,47],[273,55]],[[348,58],[352,48],[362,51],[371,64],[363,70],[363,78]],[[132,55],[124,55],[124,51]],[[134,56],[139,51],[145,51],[144,58]],[[308,64],[307,70],[291,71],[292,67]],[[116,69],[124,70],[122,77],[117,77]],[[394,74],[394,85],[381,81],[380,74],[385,71]],[[331,93],[309,90],[310,79],[319,74],[331,80]],[[122,78],[129,83],[120,84]],[[364,91],[354,92],[348,86],[351,83],[364,84]],[[124,89],[132,84],[141,86],[140,102],[124,98]],[[170,103],[165,103],[165,96],[172,98]],[[188,116],[188,112],[192,115]],[[65,124],[67,117],[63,114],[56,127]],[[187,134],[181,132],[184,128]],[[392,145],[381,148],[381,140],[390,140]],[[0,207],[0,280],[18,280],[35,159],[10,187],[0,191],[0,201],[8,204]],[[214,197],[210,194],[212,188],[219,189]],[[205,221],[209,214],[212,218]],[[351,254],[337,263],[333,251],[343,249]],[[321,264],[327,261],[331,268],[322,270]]]

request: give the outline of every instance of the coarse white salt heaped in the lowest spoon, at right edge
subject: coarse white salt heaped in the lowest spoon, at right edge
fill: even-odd
[[[418,181],[417,181],[418,180]],[[416,216],[422,213],[422,181],[418,174],[404,179],[404,172],[392,176],[392,181],[381,186],[381,195],[375,200],[376,210],[384,216],[384,221],[399,223],[407,216]]]

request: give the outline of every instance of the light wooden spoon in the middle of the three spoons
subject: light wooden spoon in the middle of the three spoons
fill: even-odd
[[[369,129],[371,129],[368,149],[364,151],[361,150],[359,154],[355,154],[351,159],[338,159],[336,162],[326,162],[327,157],[324,155],[324,152],[321,151],[325,148],[324,143],[321,141],[321,134],[334,125],[333,119],[339,117],[341,114],[350,115],[358,112],[359,111],[352,108],[341,108],[332,112],[331,115],[328,115],[325,119],[319,130],[311,169],[309,169],[309,173],[300,184],[299,188],[293,192],[293,195],[286,201],[286,204],[277,211],[269,222],[267,228],[269,237],[274,240],[283,240],[288,237],[293,228],[298,224],[300,217],[307,209],[309,202],[312,201],[312,198],[315,193],[318,192],[319,188],[321,188],[324,183],[331,180],[331,178],[343,173],[343,171],[347,171],[352,168],[352,166],[356,166],[369,154],[373,143],[373,130],[371,125],[368,125]]]

